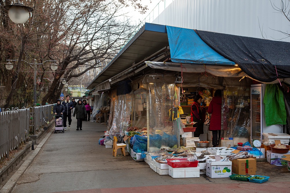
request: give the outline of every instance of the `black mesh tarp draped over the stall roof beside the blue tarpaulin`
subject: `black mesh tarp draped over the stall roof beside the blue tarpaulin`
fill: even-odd
[[[251,78],[261,82],[290,78],[288,42],[195,31],[207,45],[225,58],[234,61]]]

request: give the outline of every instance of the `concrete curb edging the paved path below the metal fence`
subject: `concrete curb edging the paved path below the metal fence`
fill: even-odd
[[[18,168],[18,170],[12,175],[12,177],[7,181],[7,183],[1,188],[0,193],[10,193],[14,186],[16,185],[19,177],[25,172],[25,170],[30,166],[38,152],[41,150],[41,147],[44,145],[50,134],[54,132],[54,129],[51,128],[50,131],[46,134],[44,139],[37,145],[35,150],[28,153],[28,155],[23,159],[22,165]]]

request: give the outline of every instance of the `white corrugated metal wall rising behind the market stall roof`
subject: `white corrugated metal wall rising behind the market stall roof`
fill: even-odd
[[[290,42],[275,31],[290,33],[290,22],[271,3],[281,7],[281,0],[175,0],[151,23]]]

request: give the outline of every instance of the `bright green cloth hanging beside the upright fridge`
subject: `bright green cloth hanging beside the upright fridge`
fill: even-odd
[[[277,84],[267,84],[264,96],[266,126],[286,124],[286,108],[283,92]]]

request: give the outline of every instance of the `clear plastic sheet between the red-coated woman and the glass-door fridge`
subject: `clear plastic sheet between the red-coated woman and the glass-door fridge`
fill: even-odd
[[[250,88],[226,86],[222,100],[221,136],[249,141],[250,122]]]

